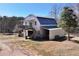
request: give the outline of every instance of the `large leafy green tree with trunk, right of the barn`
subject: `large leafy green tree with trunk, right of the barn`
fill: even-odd
[[[60,26],[67,32],[67,39],[70,40],[70,33],[77,27],[77,17],[73,9],[64,7],[60,18]]]

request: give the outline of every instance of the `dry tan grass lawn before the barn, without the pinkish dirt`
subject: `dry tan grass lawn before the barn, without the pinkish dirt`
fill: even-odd
[[[11,48],[22,50],[24,54],[30,52],[31,55],[38,56],[79,56],[79,44],[72,41],[34,41],[15,35],[0,35],[0,40],[4,40]]]

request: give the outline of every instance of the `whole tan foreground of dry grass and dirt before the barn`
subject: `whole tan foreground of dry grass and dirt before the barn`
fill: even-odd
[[[79,37],[72,41],[33,41],[0,35],[1,56],[79,56]]]

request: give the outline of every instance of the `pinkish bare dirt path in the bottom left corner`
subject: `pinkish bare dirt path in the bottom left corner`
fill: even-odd
[[[30,56],[31,53],[27,51],[27,54],[25,54],[21,49],[18,47],[13,47],[9,45],[11,41],[9,40],[0,40],[0,56]],[[7,44],[6,44],[7,43]]]

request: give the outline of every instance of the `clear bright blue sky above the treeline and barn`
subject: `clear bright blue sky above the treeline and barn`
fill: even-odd
[[[0,16],[26,17],[29,14],[49,16],[53,8],[57,7],[59,14],[64,6],[71,5],[69,3],[0,3]]]

